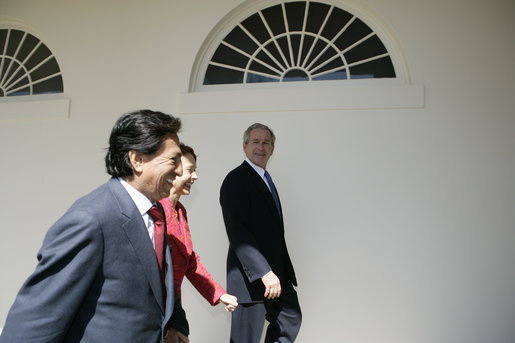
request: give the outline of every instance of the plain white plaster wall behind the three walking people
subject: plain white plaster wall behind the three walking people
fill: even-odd
[[[0,1],[3,22],[57,56],[71,101],[67,120],[0,121],[0,323],[48,227],[107,179],[115,119],[174,112],[203,40],[240,3]],[[515,3],[364,4],[397,35],[426,106],[181,116],[200,155],[184,199],[196,250],[225,284],[218,189],[244,128],[264,122],[278,136],[269,169],[299,278],[298,342],[513,342]],[[183,287],[192,342],[227,342],[229,316]]]

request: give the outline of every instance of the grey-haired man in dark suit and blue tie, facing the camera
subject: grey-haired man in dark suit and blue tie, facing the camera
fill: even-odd
[[[232,314],[231,342],[294,342],[301,310],[286,248],[281,203],[266,165],[275,135],[263,124],[244,133],[246,160],[225,177],[220,204],[229,238],[227,291],[240,306]]]

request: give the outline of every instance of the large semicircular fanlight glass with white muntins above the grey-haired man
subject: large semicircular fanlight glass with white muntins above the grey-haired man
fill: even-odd
[[[283,2],[238,23],[209,60],[203,85],[395,78],[390,55],[355,15]]]

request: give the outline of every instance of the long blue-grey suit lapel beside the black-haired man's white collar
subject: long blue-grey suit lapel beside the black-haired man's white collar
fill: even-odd
[[[128,195],[127,191],[118,182],[111,179],[109,186],[113,195],[118,200],[120,212],[127,220],[122,224],[122,228],[129,240],[135,255],[138,257],[145,275],[150,283],[150,287],[154,292],[157,302],[164,313],[163,294],[161,290],[161,281],[159,277],[159,268],[157,264],[154,247],[152,241],[148,237],[146,225],[138,211],[138,208]]]

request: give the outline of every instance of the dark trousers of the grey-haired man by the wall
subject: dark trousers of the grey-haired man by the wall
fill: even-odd
[[[277,299],[240,304],[232,313],[231,343],[259,343],[265,319],[265,343],[292,343],[302,322],[297,292],[289,289]]]

